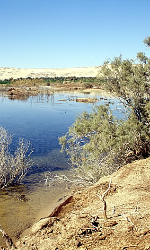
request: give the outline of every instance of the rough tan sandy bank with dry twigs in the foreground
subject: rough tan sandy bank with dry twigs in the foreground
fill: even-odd
[[[103,203],[97,196],[109,186]],[[20,250],[150,249],[150,158],[122,167],[95,185],[75,192],[21,238]],[[94,225],[93,225],[94,224]]]

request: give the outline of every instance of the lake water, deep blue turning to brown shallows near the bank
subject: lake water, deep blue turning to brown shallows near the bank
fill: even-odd
[[[96,105],[111,102],[114,115],[122,117],[123,106],[116,99],[101,98],[98,93],[60,92],[26,100],[0,96],[0,125],[14,135],[11,150],[15,150],[20,137],[29,140],[34,149],[32,158],[35,163],[24,181],[25,186],[15,192],[8,190],[0,194],[0,224],[15,239],[37,220],[41,210],[63,194],[62,187],[47,190],[44,175],[47,171],[68,167],[67,158],[60,153],[58,137],[68,131],[77,114],[84,110],[90,112],[93,106],[74,101],[77,97],[96,97],[100,100]],[[22,194],[26,200],[19,199]]]

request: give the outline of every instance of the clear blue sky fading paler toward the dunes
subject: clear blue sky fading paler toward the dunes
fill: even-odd
[[[0,0],[0,67],[100,66],[148,50],[150,0]]]

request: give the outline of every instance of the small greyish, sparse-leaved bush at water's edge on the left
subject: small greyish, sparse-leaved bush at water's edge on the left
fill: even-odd
[[[30,142],[19,139],[15,152],[10,153],[9,146],[12,135],[0,126],[0,188],[19,184],[33,162],[30,158],[32,150]]]

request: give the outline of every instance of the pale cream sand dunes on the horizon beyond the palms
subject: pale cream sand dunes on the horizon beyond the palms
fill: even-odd
[[[95,77],[100,67],[85,68],[64,68],[64,69],[19,69],[19,68],[2,68],[0,67],[0,80],[9,78],[26,78],[26,77]]]

